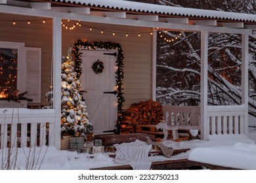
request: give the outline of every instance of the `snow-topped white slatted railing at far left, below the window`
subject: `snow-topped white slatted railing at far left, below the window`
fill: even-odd
[[[0,108],[0,148],[54,145],[55,110]]]

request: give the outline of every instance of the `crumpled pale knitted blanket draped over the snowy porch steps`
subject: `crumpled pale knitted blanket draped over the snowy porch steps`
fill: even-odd
[[[151,161],[148,153],[151,144],[136,140],[135,142],[114,144],[116,147],[116,163],[129,164],[134,170],[149,170]]]

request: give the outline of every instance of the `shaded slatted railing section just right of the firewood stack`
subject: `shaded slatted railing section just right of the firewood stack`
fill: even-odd
[[[168,125],[200,125],[200,107],[163,105],[163,120]]]

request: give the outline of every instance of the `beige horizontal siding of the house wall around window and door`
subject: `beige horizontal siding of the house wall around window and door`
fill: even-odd
[[[8,16],[0,14],[0,20],[32,20],[32,17]],[[42,18],[34,18],[42,19]],[[31,21],[32,22],[32,21]],[[65,22],[68,24],[68,22]],[[151,29],[107,24],[92,24],[81,22],[81,27],[74,30],[62,29],[62,55],[65,55],[70,45],[81,39],[83,41],[111,41],[121,44],[124,54],[124,80],[123,93],[125,97],[125,108],[132,103],[146,101],[152,96],[152,35]],[[74,24],[74,22],[72,23]],[[87,25],[87,26],[85,26]],[[26,47],[41,48],[41,105],[48,105],[45,93],[51,85],[51,60],[53,50],[52,21],[46,24],[41,21],[26,22],[0,21],[0,41],[25,42]],[[96,27],[93,31],[89,27]],[[101,34],[100,30],[104,30]],[[112,35],[116,32],[116,36]],[[121,33],[120,33],[121,32]],[[133,32],[133,34],[131,34]],[[147,33],[146,33],[147,32]],[[125,37],[125,33],[129,33]],[[140,33],[140,37],[138,34]]]

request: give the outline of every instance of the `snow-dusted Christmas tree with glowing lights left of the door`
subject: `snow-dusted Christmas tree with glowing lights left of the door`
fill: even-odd
[[[61,136],[67,134],[86,139],[88,134],[93,134],[93,125],[88,121],[86,105],[79,93],[81,83],[73,65],[69,51],[66,57],[62,57]],[[45,96],[50,105],[44,108],[51,108],[53,91],[47,92]]]

